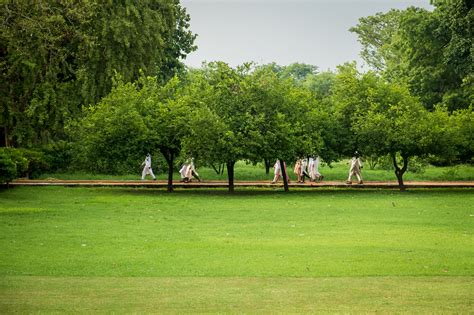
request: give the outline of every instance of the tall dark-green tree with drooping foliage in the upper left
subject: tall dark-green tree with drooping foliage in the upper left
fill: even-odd
[[[2,3],[2,138],[28,146],[61,139],[65,122],[107,95],[119,73],[167,80],[196,47],[177,0]]]

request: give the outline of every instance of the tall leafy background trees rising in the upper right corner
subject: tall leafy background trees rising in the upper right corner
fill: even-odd
[[[468,108],[474,101],[472,1],[433,3],[432,12],[410,7],[361,18],[351,31],[364,60],[388,81],[408,84],[426,108]]]

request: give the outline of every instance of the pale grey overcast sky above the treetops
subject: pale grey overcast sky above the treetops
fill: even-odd
[[[416,6],[432,10],[429,0],[181,0],[197,33],[198,49],[184,61],[200,67],[220,60],[235,67],[294,62],[335,70],[360,58],[361,45],[349,28],[360,17],[391,8]]]

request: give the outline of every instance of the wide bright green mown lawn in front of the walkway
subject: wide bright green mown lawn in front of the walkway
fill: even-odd
[[[0,191],[0,312],[470,313],[470,189]]]

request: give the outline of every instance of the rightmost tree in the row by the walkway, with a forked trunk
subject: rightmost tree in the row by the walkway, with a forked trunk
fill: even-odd
[[[400,187],[409,159],[429,154],[452,159],[458,154],[456,143],[466,137],[456,124],[459,119],[445,108],[429,112],[405,86],[387,84],[375,73],[360,74],[355,64],[339,68],[334,101],[344,126],[342,150],[352,148],[371,158],[389,155]]]

